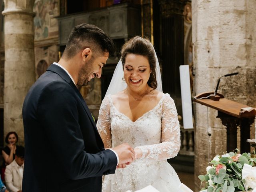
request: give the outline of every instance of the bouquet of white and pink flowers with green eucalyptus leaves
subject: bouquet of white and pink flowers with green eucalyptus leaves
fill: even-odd
[[[207,192],[235,192],[247,191],[252,188],[256,191],[255,151],[254,157],[250,153],[241,155],[237,152],[226,153],[222,156],[216,155],[209,164],[212,165],[206,168],[206,175],[198,176],[202,182],[205,182],[202,190],[207,189]]]

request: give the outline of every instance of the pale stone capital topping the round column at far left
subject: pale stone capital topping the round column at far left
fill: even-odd
[[[4,0],[4,11],[2,14],[27,14],[34,16],[34,2],[35,0]]]

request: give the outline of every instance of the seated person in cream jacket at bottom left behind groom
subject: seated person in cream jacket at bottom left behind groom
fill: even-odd
[[[4,172],[6,187],[10,192],[21,192],[22,178],[24,170],[25,148],[19,146],[16,149],[15,160],[8,166]]]

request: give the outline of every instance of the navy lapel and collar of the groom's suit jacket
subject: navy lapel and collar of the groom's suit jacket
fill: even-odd
[[[47,71],[52,71],[52,72],[55,72],[55,73],[59,74],[74,89],[74,91],[78,95],[79,100],[80,100],[82,106],[84,107],[84,110],[86,111],[86,114],[88,115],[93,127],[97,130],[95,122],[92,119],[92,114],[90,113],[90,110],[89,110],[86,102],[84,101],[84,98],[82,97],[81,93],[76,88],[75,84],[71,80],[70,76],[68,76],[66,71],[64,71],[62,68],[60,68],[59,66],[57,66],[55,64],[51,64],[50,67],[47,69]],[[98,132],[98,130],[97,130],[97,132]]]

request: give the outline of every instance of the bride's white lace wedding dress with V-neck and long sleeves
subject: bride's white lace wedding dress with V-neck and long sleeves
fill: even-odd
[[[104,176],[103,192],[135,191],[148,185],[160,192],[179,191],[180,180],[166,161],[180,149],[178,116],[169,94],[135,122],[119,112],[108,95],[102,101],[97,128],[106,148],[128,143],[142,150],[142,158]]]

